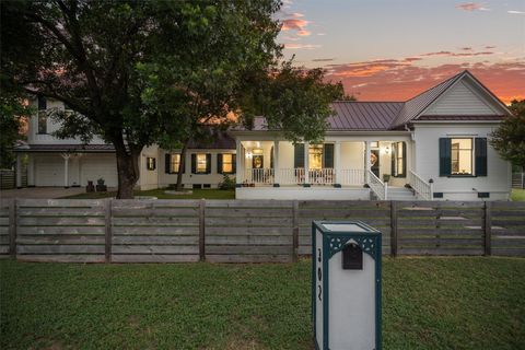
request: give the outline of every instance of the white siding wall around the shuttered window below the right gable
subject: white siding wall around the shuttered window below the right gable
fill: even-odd
[[[498,124],[416,124],[416,173],[424,180],[434,180],[434,192],[443,199],[480,200],[478,192],[490,192],[489,200],[508,200],[511,188],[511,165],[487,145],[487,176],[440,176],[440,138],[487,138]],[[474,167],[475,168],[475,164]]]

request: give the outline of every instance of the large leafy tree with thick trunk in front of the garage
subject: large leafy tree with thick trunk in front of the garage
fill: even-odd
[[[36,42],[28,69],[16,65],[11,79],[75,112],[54,115],[61,122],[57,136],[88,142],[98,135],[115,147],[118,198],[132,197],[143,147],[180,148],[185,140],[199,137],[203,125],[223,127],[230,122],[229,113],[256,110],[245,104],[254,100],[245,97],[253,91],[250,77],[267,74],[280,57],[277,0],[54,0],[1,5],[2,21],[20,23]],[[13,36],[13,45],[27,48],[16,33]],[[285,97],[293,100],[291,92]],[[327,106],[322,109],[315,116],[295,113],[306,117],[304,122],[292,122],[296,118],[282,113],[269,120],[290,128],[293,138],[314,133],[319,138]]]

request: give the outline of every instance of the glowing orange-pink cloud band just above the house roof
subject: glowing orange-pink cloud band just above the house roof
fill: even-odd
[[[525,98],[525,60],[416,66],[406,59],[326,65],[328,80],[340,80],[360,101],[406,101],[468,69],[503,102]]]

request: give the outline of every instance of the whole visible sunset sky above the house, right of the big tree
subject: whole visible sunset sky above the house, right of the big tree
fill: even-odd
[[[525,0],[284,0],[279,42],[359,101],[405,101],[468,69],[525,98]]]

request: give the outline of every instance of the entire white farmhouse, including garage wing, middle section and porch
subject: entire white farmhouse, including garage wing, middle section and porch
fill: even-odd
[[[95,138],[59,140],[46,113],[63,104],[35,100],[27,142],[19,145],[28,186],[86,186],[104,178],[117,186],[113,145]],[[156,145],[140,155],[139,189],[175,184],[214,188],[235,176],[237,199],[508,200],[511,165],[490,147],[490,133],[510,115],[471,73],[464,71],[406,102],[334,102],[322,144],[283,139],[262,117],[250,130],[218,132],[212,143],[180,151]]]

